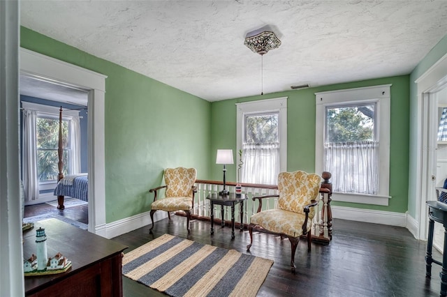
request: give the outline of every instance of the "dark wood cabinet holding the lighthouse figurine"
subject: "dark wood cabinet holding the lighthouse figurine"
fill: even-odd
[[[127,247],[57,219],[34,223],[24,232],[24,259],[36,254],[36,229],[44,228],[48,257],[71,261],[65,273],[25,276],[26,296],[122,296],[122,252]]]

